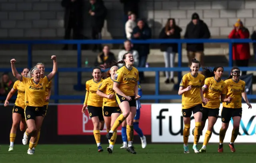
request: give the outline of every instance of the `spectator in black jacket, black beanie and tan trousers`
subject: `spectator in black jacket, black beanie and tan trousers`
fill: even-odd
[[[199,15],[195,12],[192,14],[192,21],[187,25],[184,35],[185,39],[209,39],[211,37],[209,28],[204,21],[200,20]],[[189,66],[191,60],[196,57],[204,66],[204,44],[187,43],[187,55]]]

